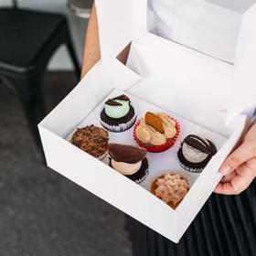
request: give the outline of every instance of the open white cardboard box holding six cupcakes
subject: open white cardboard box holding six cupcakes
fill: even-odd
[[[101,61],[38,128],[50,168],[178,242],[219,183],[219,166],[240,140],[246,126],[246,115],[240,112],[256,99],[252,69],[256,57],[256,6],[242,18],[236,64],[231,65],[149,33],[146,3],[96,1]],[[133,44],[126,67],[115,56],[130,41]],[[114,89],[226,138],[176,210],[66,140]],[[226,109],[228,101],[227,115],[220,110]]]

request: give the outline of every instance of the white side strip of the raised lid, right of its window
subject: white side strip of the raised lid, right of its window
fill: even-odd
[[[243,14],[227,123],[256,106],[256,5]]]

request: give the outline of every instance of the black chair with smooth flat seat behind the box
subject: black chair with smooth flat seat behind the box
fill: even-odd
[[[13,4],[0,8],[0,79],[16,88],[30,130],[41,148],[37,123],[46,114],[42,81],[48,61],[65,44],[78,80],[80,64],[65,16],[19,9],[15,0]]]

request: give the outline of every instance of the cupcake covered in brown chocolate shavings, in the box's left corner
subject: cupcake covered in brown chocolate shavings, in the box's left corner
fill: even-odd
[[[108,141],[109,133],[93,124],[78,128],[70,140],[71,144],[99,160],[108,154]]]

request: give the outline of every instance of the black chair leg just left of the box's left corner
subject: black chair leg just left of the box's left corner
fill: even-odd
[[[42,90],[42,75],[34,75],[27,79],[13,81],[22,103],[27,123],[39,150],[42,150],[41,140],[37,129],[45,116],[44,93]]]

